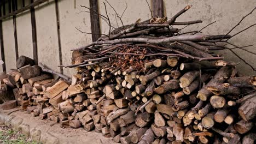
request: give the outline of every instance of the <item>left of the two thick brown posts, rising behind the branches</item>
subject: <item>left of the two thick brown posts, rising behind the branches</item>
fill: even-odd
[[[98,0],[90,0],[91,37],[96,41],[101,37],[100,17],[98,16]],[[96,13],[93,13],[95,11]]]

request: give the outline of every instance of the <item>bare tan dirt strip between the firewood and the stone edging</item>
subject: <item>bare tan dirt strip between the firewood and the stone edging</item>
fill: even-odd
[[[12,111],[12,110],[9,110]],[[8,111],[0,111],[1,113],[8,113]],[[96,133],[95,131],[86,131],[84,128],[61,128],[59,123],[54,123],[49,119],[40,120],[39,117],[33,117],[29,113],[22,111],[15,111],[10,115],[21,117],[26,119],[26,123],[32,127],[39,128],[44,131],[48,131],[60,139],[68,139],[68,143],[94,143],[94,144],[107,144],[115,143],[112,141],[112,137],[104,137],[102,133]]]

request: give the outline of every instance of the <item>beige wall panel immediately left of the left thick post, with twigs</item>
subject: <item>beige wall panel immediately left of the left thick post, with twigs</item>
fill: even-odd
[[[62,0],[59,2],[60,11],[60,38],[62,48],[63,65],[71,64],[72,48],[77,48],[88,43],[91,43],[90,34],[82,34],[75,27],[83,32],[91,32],[90,14],[81,12],[85,9],[80,5],[89,7],[89,0],[74,1]],[[74,74],[74,69],[64,69],[64,74]]]

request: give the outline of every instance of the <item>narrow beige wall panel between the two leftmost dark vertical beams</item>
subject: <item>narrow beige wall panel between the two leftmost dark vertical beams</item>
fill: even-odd
[[[3,43],[4,43],[5,65],[6,65],[6,70],[8,72],[10,71],[10,69],[16,68],[13,17],[3,21]]]

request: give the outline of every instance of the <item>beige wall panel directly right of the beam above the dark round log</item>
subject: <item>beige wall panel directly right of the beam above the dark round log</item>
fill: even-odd
[[[50,69],[60,71],[59,44],[54,1],[45,2],[35,8],[37,27],[38,62]]]

